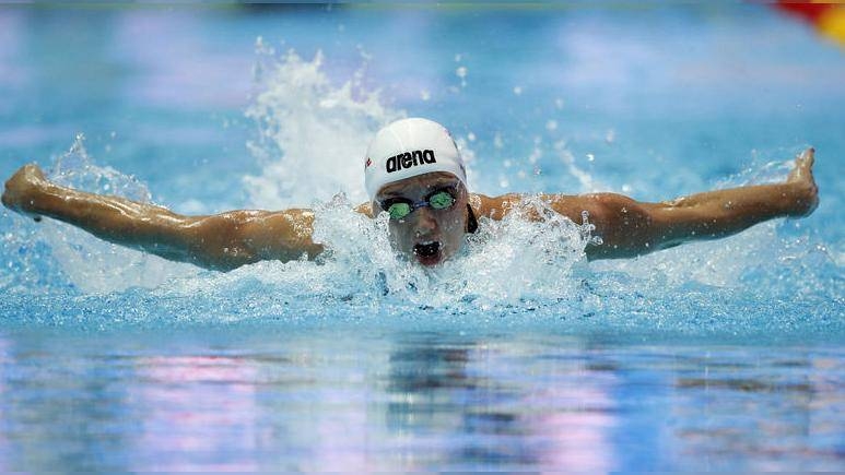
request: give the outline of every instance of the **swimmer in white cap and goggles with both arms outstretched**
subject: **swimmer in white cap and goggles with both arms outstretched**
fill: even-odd
[[[583,212],[589,214],[594,236],[602,242],[587,246],[587,259],[635,258],[730,236],[766,219],[809,215],[819,204],[813,154],[813,149],[801,153],[783,182],[659,203],[615,193],[541,198],[576,223]],[[502,219],[523,201],[517,193],[470,192],[455,141],[443,126],[426,119],[402,119],[378,131],[362,166],[369,202],[356,211],[369,217],[388,213],[395,250],[425,266],[455,256],[479,219]],[[109,242],[219,271],[261,260],[314,259],[324,251],[312,239],[310,210],[184,216],[153,204],[61,187],[47,180],[36,165],[23,166],[5,182],[2,202],[36,221],[47,216]]]

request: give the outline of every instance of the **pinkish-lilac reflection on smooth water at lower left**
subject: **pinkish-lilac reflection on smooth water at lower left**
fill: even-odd
[[[258,440],[257,370],[248,360],[155,356],[138,365],[130,404],[142,423],[130,471],[258,468],[249,456]]]

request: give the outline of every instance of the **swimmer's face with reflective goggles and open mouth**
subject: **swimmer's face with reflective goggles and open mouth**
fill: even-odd
[[[446,191],[455,202],[443,209]],[[390,218],[390,242],[394,248],[423,265],[436,265],[450,258],[463,245],[467,229],[469,193],[460,180],[451,174],[433,173],[408,178],[385,186],[376,194],[375,213],[387,211],[391,203],[437,203],[436,206],[416,207],[401,218]],[[448,201],[446,201],[448,203]]]

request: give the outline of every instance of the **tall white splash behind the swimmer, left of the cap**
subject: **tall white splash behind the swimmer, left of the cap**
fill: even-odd
[[[257,55],[259,92],[246,116],[257,126],[248,147],[262,170],[244,178],[251,204],[283,209],[327,201],[339,191],[363,202],[368,141],[404,112],[364,88],[360,72],[335,85],[320,51],[310,61],[294,50],[278,56],[259,38]]]

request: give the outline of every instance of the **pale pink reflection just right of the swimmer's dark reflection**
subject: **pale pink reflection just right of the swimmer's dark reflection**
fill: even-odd
[[[529,342],[519,348],[510,342],[508,352],[496,345],[482,345],[473,360],[481,363],[491,381],[516,388],[519,397],[492,411],[515,415],[509,429],[520,434],[531,470],[609,472],[620,470],[613,432],[620,424],[613,391],[619,378],[596,370],[585,360],[552,359]],[[519,358],[513,358],[513,349]],[[568,356],[565,353],[555,356]],[[536,361],[526,376],[525,360]],[[543,375],[538,379],[536,375]],[[512,405],[513,404],[513,405]]]

